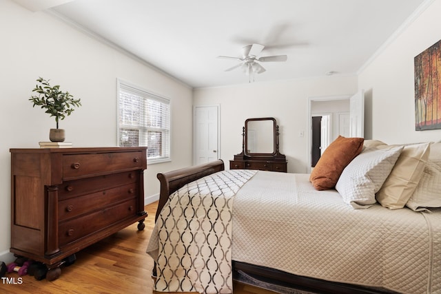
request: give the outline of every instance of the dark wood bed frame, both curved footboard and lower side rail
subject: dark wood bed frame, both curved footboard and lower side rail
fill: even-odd
[[[189,182],[193,182],[194,180],[198,180],[199,178],[208,176],[209,174],[214,174],[218,171],[223,171],[224,169],[224,162],[222,160],[216,160],[203,165],[196,165],[194,167],[186,167],[183,169],[158,174],[157,178],[161,182],[161,191],[155,221],[158,218],[159,213],[161,213],[161,210],[167,202],[170,194]],[[313,293],[395,293],[392,291],[382,291],[376,288],[367,288],[352,284],[328,282],[311,277],[302,277],[299,275],[293,275],[291,273],[285,273],[283,271],[269,269],[263,266],[256,266],[254,264],[246,264],[243,262],[233,261],[232,266],[234,273],[237,273],[237,271],[242,271],[243,273],[251,275],[252,277],[262,280],[263,282],[297,290],[311,291]]]

